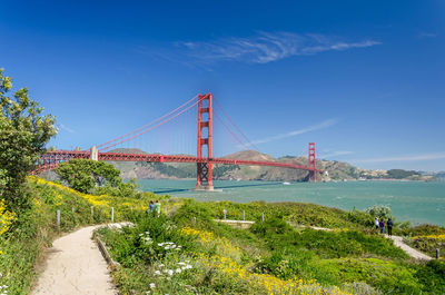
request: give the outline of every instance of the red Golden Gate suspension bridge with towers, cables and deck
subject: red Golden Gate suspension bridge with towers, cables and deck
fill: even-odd
[[[226,117],[227,122],[224,121],[217,112],[214,112],[214,102],[220,109],[221,115]],[[196,112],[197,108],[197,112]],[[187,115],[188,114],[188,115]],[[180,128],[188,128],[186,124],[187,116],[192,116],[194,124],[198,125],[197,128],[197,155],[162,155],[159,153],[148,154],[142,150],[149,150],[150,145],[154,142],[168,141],[165,130],[160,131],[160,139],[150,139],[147,135],[155,130],[161,129],[161,126],[178,121],[179,126],[175,126],[175,131],[180,131]],[[196,122],[196,114],[198,114]],[[180,119],[182,118],[182,120]],[[218,100],[216,100],[211,92],[206,95],[198,95],[172,111],[164,115],[162,117],[145,125],[131,132],[119,136],[112,140],[91,147],[89,150],[53,150],[47,151],[38,161],[38,167],[33,171],[39,174],[57,167],[62,161],[70,159],[92,159],[103,161],[145,161],[145,163],[196,163],[197,165],[197,181],[196,189],[198,190],[212,190],[212,166],[215,164],[222,165],[247,165],[247,166],[270,166],[288,169],[300,169],[308,171],[308,180],[316,181],[317,173],[323,170],[316,167],[316,153],[315,142],[308,144],[308,163],[307,165],[295,165],[277,161],[266,160],[243,160],[218,158],[212,156],[214,148],[214,118],[221,124],[221,126],[231,135],[233,138],[241,146],[255,145],[248,140],[244,132],[230,119],[227,112],[222,109]],[[182,132],[187,136],[186,132]],[[177,136],[175,136],[177,137]],[[187,136],[188,137],[188,136]],[[241,139],[243,138],[243,139]],[[138,148],[141,147],[141,148]],[[162,148],[162,147],[161,147]],[[256,148],[256,147],[255,147]],[[257,148],[256,148],[257,149]]]

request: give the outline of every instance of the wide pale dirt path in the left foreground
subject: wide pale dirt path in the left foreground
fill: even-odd
[[[56,239],[48,249],[46,269],[31,294],[117,294],[107,263],[91,239],[92,232],[100,226],[83,227]]]

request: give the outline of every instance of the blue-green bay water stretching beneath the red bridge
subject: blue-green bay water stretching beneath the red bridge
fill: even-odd
[[[445,226],[445,183],[291,183],[216,180],[217,191],[194,191],[196,180],[141,179],[140,188],[197,200],[301,201],[350,210],[386,205],[397,220]]]

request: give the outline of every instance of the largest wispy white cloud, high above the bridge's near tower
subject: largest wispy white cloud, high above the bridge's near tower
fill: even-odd
[[[205,63],[225,60],[267,63],[293,56],[309,56],[324,51],[343,51],[376,45],[380,45],[380,42],[369,39],[348,42],[325,35],[293,32],[259,32],[247,38],[176,43],[182,53]]]

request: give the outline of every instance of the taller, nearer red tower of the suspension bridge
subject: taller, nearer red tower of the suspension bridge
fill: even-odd
[[[214,190],[211,180],[211,131],[212,131],[212,95],[199,95],[198,102],[198,159],[197,163],[197,190]],[[207,149],[207,150],[206,150]],[[207,151],[207,153],[205,153]],[[207,154],[207,155],[205,155]],[[202,157],[204,156],[204,157]],[[207,157],[206,157],[207,156]]]

